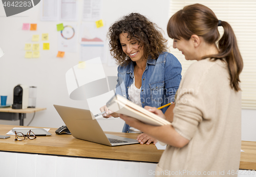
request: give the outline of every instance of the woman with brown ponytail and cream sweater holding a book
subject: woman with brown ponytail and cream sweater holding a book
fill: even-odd
[[[224,29],[221,38],[218,26]],[[151,126],[131,117],[121,118],[168,144],[156,176],[237,176],[243,60],[236,36],[226,21],[200,4],[175,13],[167,32],[186,60],[197,60],[182,77],[172,125]],[[157,108],[145,108],[165,118]]]

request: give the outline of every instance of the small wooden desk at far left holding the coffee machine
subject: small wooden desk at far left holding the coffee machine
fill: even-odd
[[[27,109],[12,109],[11,107],[0,108],[0,119],[3,120],[19,120],[19,125],[24,125],[24,119],[27,113],[35,113],[46,108],[27,108]]]

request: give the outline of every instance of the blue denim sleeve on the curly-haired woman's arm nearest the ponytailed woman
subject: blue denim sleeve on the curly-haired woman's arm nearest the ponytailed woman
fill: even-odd
[[[181,80],[181,70],[179,60],[173,54],[168,53],[164,72],[165,91],[168,103],[175,101],[175,94]]]

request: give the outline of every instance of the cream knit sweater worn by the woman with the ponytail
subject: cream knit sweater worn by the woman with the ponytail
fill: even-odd
[[[190,140],[167,145],[156,176],[237,176],[241,149],[241,92],[231,89],[226,63],[190,65],[177,92],[173,127]]]

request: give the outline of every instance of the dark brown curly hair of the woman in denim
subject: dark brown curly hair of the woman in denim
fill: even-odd
[[[167,51],[167,40],[160,31],[162,29],[139,13],[123,16],[109,28],[111,55],[117,64],[126,65],[131,62],[131,58],[123,52],[119,39],[121,33],[128,33],[128,39],[138,40],[140,48],[143,47],[143,58],[157,59],[159,54]]]

